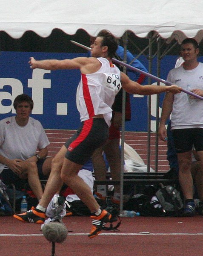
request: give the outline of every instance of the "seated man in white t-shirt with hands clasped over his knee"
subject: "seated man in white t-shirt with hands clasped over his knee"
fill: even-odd
[[[20,94],[13,105],[16,115],[0,121],[0,179],[19,189],[28,179],[40,200],[40,179],[47,179],[51,171],[52,158],[46,158],[49,140],[40,122],[29,116],[33,109],[31,97]]]

